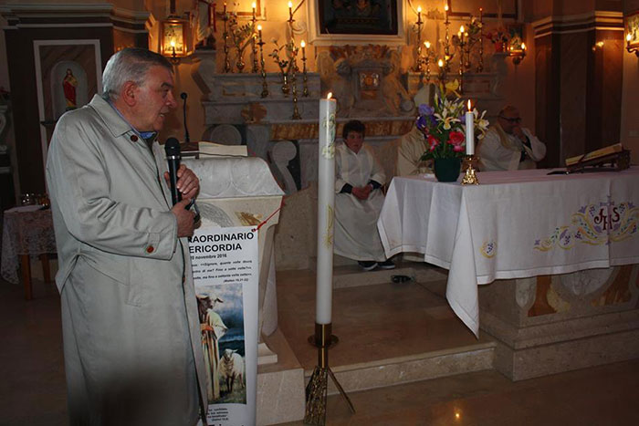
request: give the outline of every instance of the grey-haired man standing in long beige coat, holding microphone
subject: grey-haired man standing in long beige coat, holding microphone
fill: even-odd
[[[63,115],[47,160],[73,425],[194,425],[206,384],[181,167],[171,205],[156,132],[176,106],[173,68],[127,48],[104,93]]]

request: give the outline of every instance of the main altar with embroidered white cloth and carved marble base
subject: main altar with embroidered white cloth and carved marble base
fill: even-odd
[[[511,379],[639,357],[639,168],[548,172],[394,178],[378,222],[386,255],[449,270],[450,306],[500,340],[496,368]]]

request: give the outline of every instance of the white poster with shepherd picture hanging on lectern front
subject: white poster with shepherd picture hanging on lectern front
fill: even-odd
[[[255,227],[204,227],[189,238],[202,330],[209,426],[256,421],[259,260]]]

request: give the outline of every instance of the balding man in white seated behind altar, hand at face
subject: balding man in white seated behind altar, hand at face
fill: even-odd
[[[546,145],[521,127],[519,110],[508,106],[479,142],[477,155],[481,171],[536,169],[546,156]]]

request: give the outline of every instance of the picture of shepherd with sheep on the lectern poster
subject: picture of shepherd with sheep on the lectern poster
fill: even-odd
[[[241,284],[199,286],[208,402],[246,404],[246,348]]]

